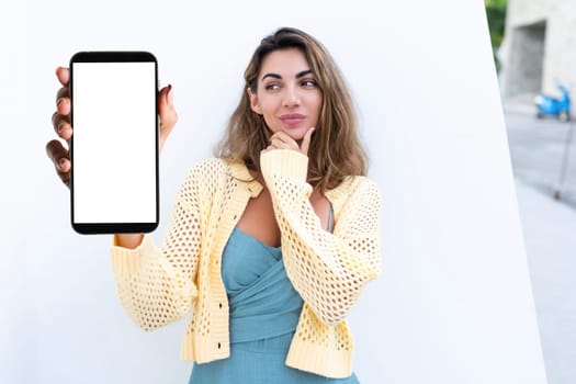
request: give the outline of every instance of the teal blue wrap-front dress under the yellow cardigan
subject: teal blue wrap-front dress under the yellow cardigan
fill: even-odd
[[[331,215],[330,210],[329,223]],[[359,383],[353,373],[329,379],[284,363],[303,301],[286,275],[280,247],[234,228],[222,256],[222,278],[230,310],[230,355],[194,363],[189,384]]]

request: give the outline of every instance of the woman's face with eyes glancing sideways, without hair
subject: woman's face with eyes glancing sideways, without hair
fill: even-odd
[[[285,132],[300,140],[316,127],[323,93],[306,57],[297,48],[274,50],[262,60],[257,92],[248,89],[252,111],[264,117],[276,133]]]

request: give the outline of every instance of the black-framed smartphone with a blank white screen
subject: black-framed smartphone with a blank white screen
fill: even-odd
[[[159,217],[158,63],[147,52],[70,59],[70,212],[79,234],[149,233]]]

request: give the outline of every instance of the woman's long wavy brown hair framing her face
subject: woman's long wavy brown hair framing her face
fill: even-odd
[[[260,173],[260,151],[269,145],[272,132],[262,115],[250,108],[247,89],[258,89],[258,75],[264,57],[278,49],[300,49],[323,92],[316,132],[308,149],[307,181],[320,191],[336,188],[347,176],[365,176],[368,157],[358,135],[358,122],[342,74],[328,50],[314,37],[292,27],[282,27],[264,37],[244,74],[246,87],[215,155],[228,161],[244,161]]]

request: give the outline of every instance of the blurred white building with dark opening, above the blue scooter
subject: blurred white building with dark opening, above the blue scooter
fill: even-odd
[[[576,86],[576,0],[508,0],[498,50],[500,90],[511,98]]]

